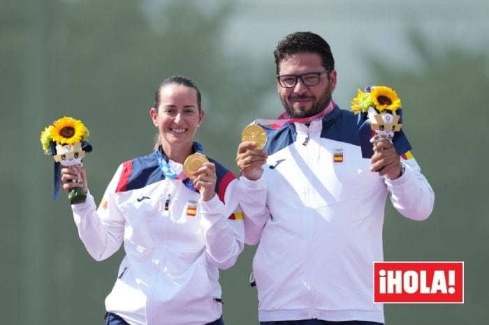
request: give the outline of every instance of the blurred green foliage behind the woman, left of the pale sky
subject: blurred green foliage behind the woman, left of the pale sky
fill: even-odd
[[[256,116],[273,77],[254,76],[263,68],[254,62],[250,69],[246,53],[226,54],[221,32],[233,6],[214,7],[200,1],[0,3],[1,100],[10,107],[0,119],[6,140],[1,200],[9,216],[0,228],[0,275],[15,279],[1,282],[9,293],[1,301],[6,324],[101,324],[122,258],[119,252],[94,262],[78,239],[66,195],[51,201],[53,161],[42,155],[38,137],[55,119],[73,116],[89,128],[94,151],[85,167],[99,200],[119,163],[152,151],[157,130],[149,108],[156,86],[185,75],[198,84],[207,112],[197,140],[208,156],[237,171],[236,130]],[[230,287],[224,299],[233,296],[231,287],[247,290],[241,296],[254,314],[256,293],[247,289],[251,266],[243,263],[223,274]],[[241,287],[233,285],[236,278]],[[245,317],[245,300],[226,300],[233,317]]]

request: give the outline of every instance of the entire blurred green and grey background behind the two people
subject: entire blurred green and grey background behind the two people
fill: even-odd
[[[122,259],[91,259],[66,196],[52,201],[45,126],[66,115],[89,128],[85,167],[99,200],[120,162],[152,150],[154,89],[182,74],[207,110],[197,139],[238,172],[242,128],[282,112],[277,41],[314,31],[333,49],[340,107],[358,87],[397,91],[435,190],[425,222],[388,206],[386,260],[465,262],[465,304],[386,305],[386,324],[488,324],[488,14],[485,0],[2,0],[0,323],[102,324]],[[253,253],[221,273],[228,325],[258,324]]]

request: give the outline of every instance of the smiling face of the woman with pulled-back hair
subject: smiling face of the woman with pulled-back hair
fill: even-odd
[[[159,129],[163,146],[191,146],[204,111],[198,111],[197,91],[181,84],[168,84],[159,91],[160,105],[149,111]]]

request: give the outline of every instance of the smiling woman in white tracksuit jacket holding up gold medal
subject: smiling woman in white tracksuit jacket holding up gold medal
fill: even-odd
[[[224,324],[218,269],[235,263],[244,231],[231,172],[212,159],[193,180],[182,172],[184,160],[203,151],[194,135],[204,114],[194,82],[163,81],[149,110],[159,129],[156,150],[119,166],[98,209],[85,169],[61,171],[65,192],[87,194],[71,208],[89,254],[100,261],[124,243],[105,324]]]

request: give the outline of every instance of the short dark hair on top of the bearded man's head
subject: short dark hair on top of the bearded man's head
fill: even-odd
[[[321,56],[323,67],[331,71],[335,68],[335,59],[331,53],[330,45],[321,36],[310,31],[297,31],[287,35],[279,41],[277,49],[273,52],[277,75],[279,74],[279,63],[287,56],[298,53],[316,53]]]

